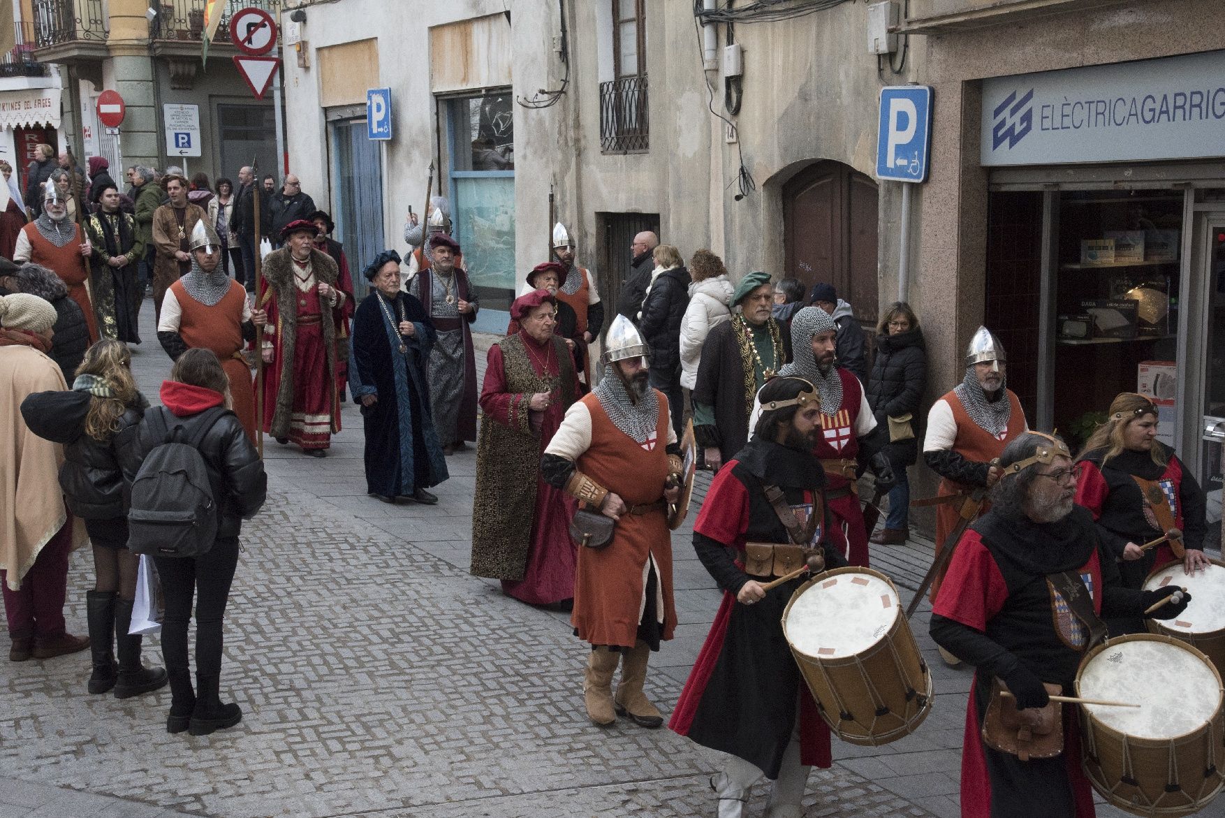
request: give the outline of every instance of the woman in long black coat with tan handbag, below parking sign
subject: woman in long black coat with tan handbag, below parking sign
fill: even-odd
[[[881,316],[876,337],[876,364],[867,382],[867,404],[876,422],[889,430],[884,453],[893,464],[897,482],[889,490],[889,514],[884,528],[871,538],[877,545],[900,545],[910,536],[907,511],[910,485],[907,467],[919,459],[919,402],[927,387],[927,353],[919,318],[905,301],[891,304]],[[905,438],[907,429],[911,435]],[[898,433],[904,440],[898,440]]]

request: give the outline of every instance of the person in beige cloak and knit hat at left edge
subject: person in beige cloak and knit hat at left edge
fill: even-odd
[[[64,623],[69,551],[86,541],[60,492],[64,447],[29,431],[20,410],[31,393],[67,388],[47,356],[54,325],[49,301],[27,293],[0,296],[0,588],[10,661],[89,647]]]

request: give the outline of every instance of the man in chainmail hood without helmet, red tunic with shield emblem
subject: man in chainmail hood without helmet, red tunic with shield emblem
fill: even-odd
[[[821,433],[812,453],[826,473],[826,503],[837,524],[832,539],[853,566],[867,566],[867,524],[859,502],[858,480],[866,468],[876,474],[876,491],[893,487],[893,464],[886,446],[889,436],[878,426],[864,385],[855,373],[835,364],[838,326],[821,307],[804,307],[791,318],[793,361],[782,376],[802,377],[821,398]],[[757,422],[753,413],[753,424]],[[842,542],[838,542],[838,540]]]

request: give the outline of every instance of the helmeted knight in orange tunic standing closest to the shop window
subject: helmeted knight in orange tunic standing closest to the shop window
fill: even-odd
[[[1007,370],[1003,343],[986,327],[979,327],[965,350],[965,377],[927,413],[924,460],[942,478],[938,496],[948,497],[936,506],[937,556],[957,525],[963,498],[1000,479],[992,460],[1028,429],[1025,411],[1006,386]],[[932,600],[942,578],[936,577],[931,584]],[[943,649],[941,655],[956,664],[956,658]]]

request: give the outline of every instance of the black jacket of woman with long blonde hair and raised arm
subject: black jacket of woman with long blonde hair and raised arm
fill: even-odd
[[[60,489],[69,511],[77,517],[114,519],[127,516],[123,463],[136,456],[136,429],[145,405],[141,397],[140,405],[129,407],[119,418],[119,431],[103,442],[85,433],[85,418],[89,411],[89,396],[85,392],[36,392],[21,403],[29,431],[64,445]]]

